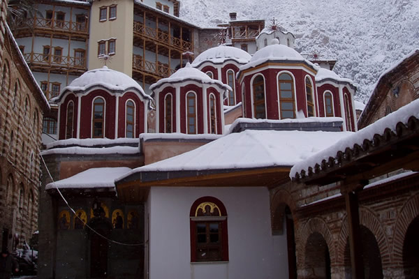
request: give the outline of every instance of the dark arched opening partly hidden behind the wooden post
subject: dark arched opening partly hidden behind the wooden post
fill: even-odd
[[[364,263],[364,278],[383,278],[383,266],[381,264],[380,248],[374,234],[365,226],[360,225],[362,241],[362,262]],[[351,268],[351,248],[349,247],[349,237],[346,240],[345,252],[345,278],[352,278]]]

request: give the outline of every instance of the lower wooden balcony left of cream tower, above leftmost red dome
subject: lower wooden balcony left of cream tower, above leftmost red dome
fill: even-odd
[[[59,56],[41,53],[25,53],[24,59],[31,70],[51,73],[84,73],[87,70],[87,59],[72,56]]]

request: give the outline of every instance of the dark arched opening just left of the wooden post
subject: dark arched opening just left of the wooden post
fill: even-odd
[[[307,239],[305,247],[304,278],[330,279],[330,252],[324,237],[314,232]]]

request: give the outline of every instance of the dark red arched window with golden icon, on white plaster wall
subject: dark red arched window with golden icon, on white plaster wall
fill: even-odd
[[[228,261],[227,211],[215,197],[191,206],[191,262]]]

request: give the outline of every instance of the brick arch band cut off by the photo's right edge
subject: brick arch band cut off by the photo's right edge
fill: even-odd
[[[415,195],[407,200],[402,209],[397,214],[395,232],[393,233],[392,255],[393,262],[403,263],[403,243],[407,229],[413,220],[419,216],[419,195]]]

